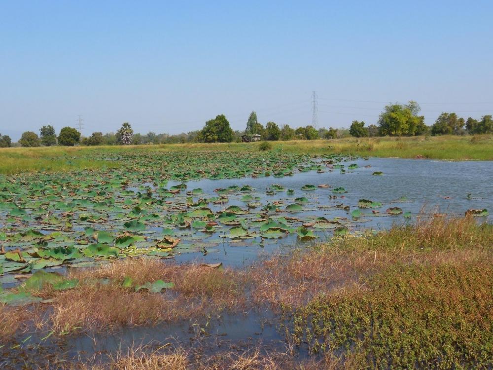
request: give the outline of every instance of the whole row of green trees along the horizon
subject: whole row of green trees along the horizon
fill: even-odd
[[[427,126],[418,103],[410,101],[408,104],[389,104],[379,116],[377,125],[365,126],[364,121],[352,121],[348,129],[316,129],[312,125],[291,128],[284,124],[281,127],[275,122],[264,125],[258,122],[257,114],[252,111],[248,116],[245,131],[233,131],[224,114],[210,119],[202,130],[190,131],[177,135],[156,134],[148,132],[145,135],[134,133],[132,126],[125,122],[116,132],[103,134],[93,132],[89,137],[81,137],[80,132],[72,127],[64,127],[58,136],[52,125],[45,125],[39,129],[39,135],[33,131],[26,131],[19,140],[23,147],[39,146],[96,146],[96,145],[140,145],[140,144],[177,144],[177,143],[231,143],[242,140],[251,141],[254,135],[259,135],[264,141],[277,140],[316,140],[335,139],[348,136],[375,137],[375,136],[417,136],[417,135],[474,135],[493,133],[492,115],[484,115],[481,119],[468,117],[467,120],[458,117],[454,112],[443,112],[435,123]],[[10,147],[12,141],[8,135],[0,134],[0,148]]]

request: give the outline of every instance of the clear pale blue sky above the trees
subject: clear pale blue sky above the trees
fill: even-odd
[[[388,102],[493,112],[493,1],[0,0],[0,133],[180,133],[226,114],[376,123]]]

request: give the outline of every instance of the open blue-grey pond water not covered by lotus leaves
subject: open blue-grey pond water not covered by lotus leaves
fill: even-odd
[[[254,188],[249,193],[259,199],[263,205],[275,201],[284,204],[293,203],[298,197],[306,197],[309,202],[303,205],[301,212],[289,213],[289,216],[299,217],[300,220],[310,221],[317,217],[325,217],[328,220],[341,218],[346,220],[346,225],[351,232],[364,229],[381,230],[391,227],[393,223],[413,222],[417,216],[427,217],[434,213],[447,214],[448,216],[463,216],[468,209],[493,210],[493,161],[483,162],[449,162],[435,160],[415,160],[397,158],[371,158],[369,160],[358,159],[351,161],[357,168],[341,173],[335,169],[332,172],[317,173],[310,171],[296,173],[293,176],[283,178],[262,177],[245,179],[224,180],[197,180],[186,183],[187,190],[201,188],[204,194],[214,194],[217,188],[227,188],[232,185],[249,185]],[[370,165],[371,167],[365,167]],[[372,175],[374,172],[382,172],[381,176]],[[170,182],[169,185],[179,185],[178,182]],[[271,185],[279,184],[284,191],[275,191],[273,195],[267,195],[266,189]],[[306,184],[328,184],[331,188],[317,187],[312,191],[301,190]],[[149,184],[146,184],[149,185]],[[334,194],[333,188],[344,187],[347,193]],[[293,189],[294,193],[287,194],[286,189]],[[469,197],[468,197],[468,194]],[[245,208],[246,202],[241,201],[244,193],[236,192],[228,195],[227,205],[238,205]],[[336,198],[330,198],[336,196]],[[402,197],[406,199],[403,200]],[[194,200],[198,200],[195,197]],[[373,213],[373,209],[361,209],[364,216],[353,220],[351,211],[358,208],[360,199],[369,199],[382,203],[382,207],[376,209],[379,213]],[[336,207],[343,204],[350,206],[349,210]],[[216,212],[225,206],[211,206]],[[389,207],[399,207],[403,213],[410,212],[411,218],[402,215],[388,215]],[[257,209],[251,211],[255,214]],[[280,217],[285,216],[283,213]],[[243,217],[252,217],[243,216]],[[273,217],[276,217],[274,214]],[[242,216],[238,217],[239,219]],[[492,216],[478,217],[478,222],[491,222]],[[333,235],[333,230],[315,231],[317,239],[311,242],[323,241]],[[209,239],[217,240],[213,236]],[[255,240],[256,239],[256,240]],[[208,250],[208,253],[187,253],[176,256],[177,261],[200,260],[207,263],[222,262],[230,266],[242,266],[251,263],[261,254],[272,253],[277,250],[289,249],[300,246],[296,234],[290,234],[280,239],[264,239],[235,242],[223,238],[222,242]],[[208,241],[207,235],[202,239]],[[301,244],[306,244],[301,242]]]

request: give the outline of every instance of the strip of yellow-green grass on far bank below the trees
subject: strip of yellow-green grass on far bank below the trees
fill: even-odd
[[[264,142],[193,143],[138,146],[0,148],[0,174],[67,172],[115,167],[118,162],[94,160],[93,153],[125,151],[258,151]],[[493,160],[493,135],[415,136],[293,140],[269,142],[271,150],[290,153],[351,153],[368,157],[439,160]]]

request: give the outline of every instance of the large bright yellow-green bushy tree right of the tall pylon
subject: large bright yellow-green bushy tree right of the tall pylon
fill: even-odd
[[[402,136],[422,135],[426,133],[424,116],[418,116],[420,106],[414,101],[407,105],[391,104],[380,114],[378,123],[380,135]]]

